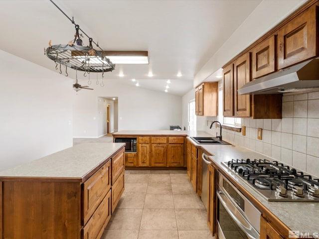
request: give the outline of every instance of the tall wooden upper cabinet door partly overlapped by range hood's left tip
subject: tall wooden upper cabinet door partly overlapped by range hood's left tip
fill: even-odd
[[[250,82],[250,52],[234,62],[234,107],[235,117],[250,117],[251,95],[238,95],[237,90]]]

